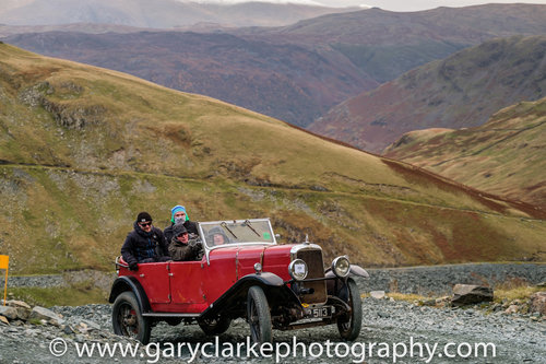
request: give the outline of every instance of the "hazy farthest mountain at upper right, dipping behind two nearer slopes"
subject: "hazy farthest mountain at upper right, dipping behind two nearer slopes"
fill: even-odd
[[[383,83],[491,38],[544,35],[545,19],[546,4],[490,3],[416,12],[371,8],[302,20],[262,33],[289,42],[328,44]]]

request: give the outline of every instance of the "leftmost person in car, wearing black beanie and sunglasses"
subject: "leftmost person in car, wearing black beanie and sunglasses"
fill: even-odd
[[[121,256],[129,269],[139,270],[138,263],[168,261],[168,247],[163,232],[152,225],[152,216],[141,212],[121,247]]]

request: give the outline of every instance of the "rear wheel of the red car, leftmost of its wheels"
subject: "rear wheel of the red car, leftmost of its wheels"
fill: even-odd
[[[151,322],[142,316],[132,292],[127,291],[117,296],[111,309],[111,324],[116,334],[136,339],[143,344],[150,342]]]

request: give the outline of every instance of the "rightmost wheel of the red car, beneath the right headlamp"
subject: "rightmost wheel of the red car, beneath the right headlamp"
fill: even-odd
[[[347,285],[342,290],[342,300],[351,306],[351,313],[337,318],[337,330],[342,339],[353,341],[360,334],[363,327],[363,302],[360,292],[353,279],[347,279]]]

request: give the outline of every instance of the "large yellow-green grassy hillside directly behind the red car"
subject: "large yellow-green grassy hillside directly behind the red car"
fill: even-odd
[[[545,214],[215,99],[0,44],[0,253],[111,269],[141,210],[271,216],[365,266],[544,259]]]

